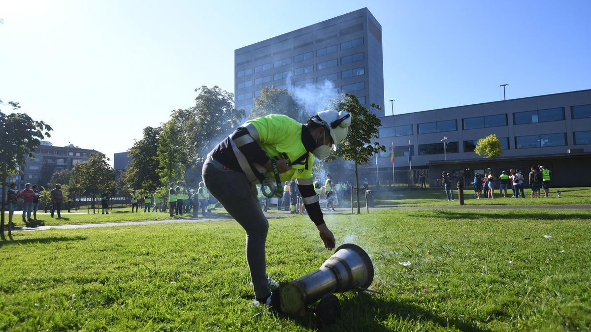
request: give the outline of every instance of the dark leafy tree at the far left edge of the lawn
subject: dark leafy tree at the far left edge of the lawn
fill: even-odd
[[[0,100],[2,105],[2,100]],[[9,102],[13,109],[21,106]],[[41,144],[40,140],[50,137],[51,127],[43,121],[35,121],[26,113],[7,115],[0,111],[0,167],[2,176],[2,202],[0,207],[0,234],[4,239],[4,208],[6,206],[6,187],[8,174],[17,173],[17,167],[25,165],[25,156],[34,157],[33,152]],[[8,235],[11,230],[8,229]]]

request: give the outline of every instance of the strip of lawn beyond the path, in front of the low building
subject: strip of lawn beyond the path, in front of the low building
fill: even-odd
[[[561,197],[557,197],[556,191],[561,191]],[[525,189],[525,199],[502,197],[499,191],[495,190],[495,198],[476,199],[473,187],[464,189],[464,200],[466,205],[563,205],[563,204],[591,204],[591,188],[551,188],[550,197],[531,198],[531,189]],[[512,196],[513,191],[507,191],[508,196]],[[459,205],[457,201],[457,189],[453,191],[454,201],[448,201],[443,188],[440,190],[420,190],[420,189],[399,189],[393,191],[376,191],[375,204],[381,207],[397,206],[450,206]],[[365,197],[360,197],[362,206],[365,206]]]

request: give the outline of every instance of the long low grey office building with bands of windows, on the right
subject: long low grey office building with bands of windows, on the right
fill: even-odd
[[[521,169],[527,178],[532,165],[550,169],[553,185],[591,185],[585,167],[591,165],[591,90],[405,113],[381,121],[378,141],[387,148],[378,162],[382,184],[410,168],[410,152],[414,173],[428,170],[431,187],[441,185],[442,171],[469,184],[476,172],[499,174],[509,168]],[[501,141],[501,157],[476,155],[478,139],[491,134]],[[375,168],[364,172],[375,179]],[[417,178],[414,174],[415,182]]]

